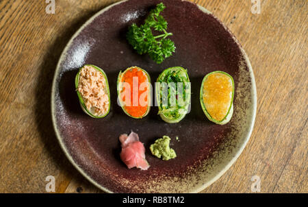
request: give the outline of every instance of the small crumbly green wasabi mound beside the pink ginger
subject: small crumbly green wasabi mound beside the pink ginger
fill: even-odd
[[[170,160],[177,157],[175,150],[170,148],[170,137],[163,136],[155,141],[154,144],[150,146],[153,156],[157,158],[162,158],[162,160]]]

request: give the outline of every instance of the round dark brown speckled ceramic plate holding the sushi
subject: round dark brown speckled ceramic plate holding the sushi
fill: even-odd
[[[175,54],[162,64],[139,56],[125,39],[131,23],[141,23],[159,2],[174,35]],[[110,82],[112,106],[104,119],[92,119],[80,108],[74,78],[84,64],[99,66]],[[128,117],[116,101],[120,70],[140,66],[155,82],[171,66],[188,69],[192,82],[192,110],[177,124],[157,115]],[[203,114],[199,91],[203,77],[225,71],[235,81],[234,114],[227,125],[211,123]],[[244,149],[255,120],[256,90],[251,64],[237,40],[204,8],[181,0],[129,0],[93,16],[68,42],[57,66],[52,91],[52,117],[57,138],[73,165],[93,184],[107,192],[197,192],[217,180]],[[127,169],[120,160],[118,136],[137,132],[146,147],[147,171]],[[177,158],[159,160],[149,146],[168,135]],[[175,137],[179,136],[179,141]]]

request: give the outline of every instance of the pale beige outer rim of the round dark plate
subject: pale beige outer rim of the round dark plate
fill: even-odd
[[[57,62],[57,66],[55,68],[55,74],[53,76],[52,88],[51,88],[51,119],[52,119],[52,122],[53,122],[53,130],[55,131],[55,136],[57,137],[57,141],[59,142],[60,147],[62,148],[62,151],[64,151],[66,158],[68,158],[70,163],[75,167],[75,169],[77,169],[77,171],[79,171],[79,173],[81,173],[81,175],[83,175],[94,186],[101,189],[102,191],[105,191],[105,193],[114,193],[114,192],[110,191],[109,189],[105,188],[104,186],[101,186],[95,180],[90,178],[90,176],[84,171],[84,169],[82,169],[81,167],[79,167],[79,165],[76,164],[75,160],[73,160],[73,157],[69,154],[68,149],[67,149],[66,145],[64,144],[63,138],[60,135],[59,130],[57,130],[57,124],[56,124],[57,121],[56,121],[56,117],[55,117],[55,86],[56,86],[57,77],[58,77],[59,71],[60,71],[60,64],[61,64],[62,60],[64,60],[64,57],[65,57],[68,49],[70,48],[70,45],[72,44],[73,40],[82,32],[82,30],[84,30],[85,27],[87,27],[90,23],[92,23],[92,21],[94,21],[94,19],[96,19],[98,16],[100,16],[101,14],[106,12],[107,10],[110,10],[110,8],[114,7],[115,5],[118,5],[120,3],[124,3],[126,1],[129,1],[129,0],[118,1],[118,2],[112,3],[111,5],[107,5],[107,7],[103,8],[102,10],[100,10],[99,12],[97,12],[96,14],[91,16],[90,19],[88,19],[86,21],[86,23],[81,25],[81,27],[77,30],[77,32],[75,32],[75,34],[73,34],[73,36],[70,38],[70,40],[66,43],[66,46],[64,47],[64,50],[62,51],[61,56],[60,56],[60,58]],[[186,0],[182,0],[182,1],[186,1]],[[187,1],[187,2],[193,3],[191,1]],[[211,14],[212,16],[214,16],[214,14],[209,12],[209,10],[205,9],[203,6],[198,5],[196,3],[193,3],[193,4],[196,5],[198,7],[198,9],[201,10],[202,12],[204,12],[205,14]],[[192,191],[188,192],[188,193],[198,193],[200,191],[203,191],[205,188],[207,188],[208,186],[213,184],[216,180],[218,180],[234,164],[234,162],[236,160],[238,160],[238,158],[242,154],[242,151],[244,150],[248,141],[251,138],[251,134],[253,132],[253,127],[255,125],[255,117],[257,116],[257,86],[255,84],[255,75],[253,73],[253,67],[251,66],[251,62],[250,62],[246,52],[242,48],[242,45],[240,45],[240,43],[235,38],[235,36],[232,34],[232,32],[229,30],[229,28],[226,25],[224,25],[224,23],[222,23],[222,21],[220,21],[216,16],[214,16],[214,18],[217,21],[220,22],[220,24],[224,27],[224,29],[227,30],[227,32],[229,32],[229,34],[231,34],[233,40],[235,40],[236,44],[240,48],[240,51],[241,51],[242,56],[244,58],[244,62],[246,62],[246,64],[247,64],[247,67],[248,67],[248,70],[249,70],[248,72],[249,72],[249,75],[251,77],[251,90],[252,90],[251,91],[251,93],[252,93],[251,101],[253,103],[253,107],[252,107],[253,115],[251,117],[252,120],[251,120],[251,125],[248,129],[248,134],[247,134],[246,138],[244,139],[244,143],[241,145],[240,149],[238,149],[238,151],[235,152],[235,156],[233,156],[233,158],[229,162],[227,162],[227,165],[225,165],[213,178],[211,178],[209,181],[205,182],[205,184],[202,184],[201,186],[199,186],[195,189],[192,189]]]

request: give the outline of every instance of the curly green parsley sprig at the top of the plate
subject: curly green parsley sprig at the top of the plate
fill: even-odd
[[[175,52],[175,43],[167,38],[172,36],[172,33],[166,31],[168,23],[164,16],[159,15],[165,8],[164,3],[157,4],[146,17],[143,25],[138,27],[133,23],[127,32],[127,40],[133,49],[136,49],[140,55],[148,53],[157,64],[162,63]],[[152,29],[162,34],[154,36]]]

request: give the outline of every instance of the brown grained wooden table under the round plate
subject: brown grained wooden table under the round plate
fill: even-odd
[[[58,193],[101,192],[70,164],[51,123],[51,82],[71,36],[113,1],[0,1],[0,192],[43,193],[47,175]],[[199,0],[248,53],[257,82],[257,119],[235,164],[203,193],[308,193],[307,0]]]

